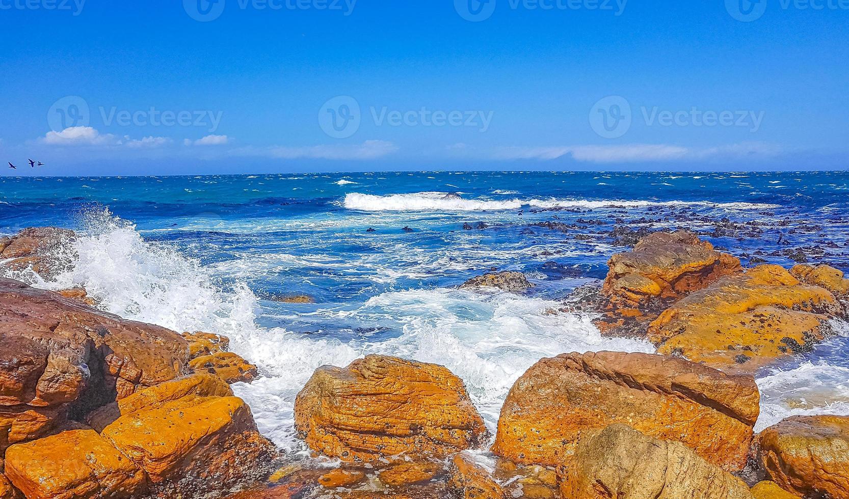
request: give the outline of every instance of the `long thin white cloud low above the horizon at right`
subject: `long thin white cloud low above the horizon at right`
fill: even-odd
[[[674,160],[769,158],[782,149],[764,143],[739,143],[712,148],[687,148],[670,144],[582,145],[498,148],[493,160],[556,160],[567,155],[590,163],[631,163]]]

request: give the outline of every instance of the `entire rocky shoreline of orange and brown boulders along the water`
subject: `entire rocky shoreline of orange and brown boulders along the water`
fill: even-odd
[[[0,239],[0,266],[70,265],[50,227]],[[523,292],[520,272],[464,284]],[[0,499],[89,497],[849,499],[849,418],[756,434],[753,373],[849,317],[829,266],[744,268],[693,233],[641,233],[564,311],[655,354],[545,358],[494,435],[447,368],[391,356],[321,367],[295,401],[314,457],[283,456],[228,384],[259,376],[212,333],[98,311],[84,289],[0,279]],[[557,311],[553,311],[557,313]]]

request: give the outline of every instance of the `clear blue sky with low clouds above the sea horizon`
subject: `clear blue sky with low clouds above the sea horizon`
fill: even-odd
[[[0,27],[3,175],[849,159],[849,0],[0,0]]]

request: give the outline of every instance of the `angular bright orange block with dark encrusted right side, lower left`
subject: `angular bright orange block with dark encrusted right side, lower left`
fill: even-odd
[[[153,484],[211,487],[261,471],[273,445],[256,431],[250,408],[233,396],[186,395],[117,418],[101,435]],[[214,483],[207,480],[214,479]]]

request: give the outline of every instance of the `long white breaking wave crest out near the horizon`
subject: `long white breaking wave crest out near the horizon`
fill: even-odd
[[[765,210],[778,205],[764,203],[711,203],[709,201],[643,201],[624,199],[464,199],[453,193],[409,193],[378,196],[374,194],[346,194],[342,205],[349,210],[363,211],[482,211],[518,210],[532,208],[645,208],[649,206],[706,206],[728,210]]]

